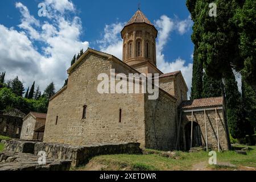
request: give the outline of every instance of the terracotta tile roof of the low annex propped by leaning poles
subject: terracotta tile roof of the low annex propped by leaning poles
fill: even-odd
[[[222,106],[223,97],[201,98],[181,103],[182,109],[192,109],[197,107]]]

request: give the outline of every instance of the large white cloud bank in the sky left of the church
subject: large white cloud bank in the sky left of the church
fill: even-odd
[[[0,68],[6,71],[6,78],[19,76],[24,86],[31,86],[35,80],[41,89],[55,82],[61,88],[67,78],[71,59],[81,48],[88,48],[88,42],[81,42],[81,20],[77,16],[65,14],[74,11],[72,2],[46,0],[49,15],[41,22],[32,16],[22,3],[16,8],[22,14],[19,28],[7,28],[0,24]],[[68,16],[68,18],[67,18]],[[39,48],[36,43],[42,44]]]

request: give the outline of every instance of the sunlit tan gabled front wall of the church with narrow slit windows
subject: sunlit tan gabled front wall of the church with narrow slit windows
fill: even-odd
[[[97,76],[110,75],[110,69],[116,65],[110,62],[90,53],[69,75],[67,89],[49,102],[45,142],[76,145],[139,142],[144,146],[143,94],[97,92],[100,82]],[[86,119],[82,119],[84,105],[87,106]],[[122,109],[121,123],[119,109]]]

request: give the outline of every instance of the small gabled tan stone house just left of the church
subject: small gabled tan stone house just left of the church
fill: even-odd
[[[43,140],[44,126],[46,125],[46,114],[30,112],[23,119],[20,139]]]

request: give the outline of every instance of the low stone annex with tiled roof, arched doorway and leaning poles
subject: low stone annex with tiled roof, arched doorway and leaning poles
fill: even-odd
[[[229,150],[230,139],[225,119],[223,97],[183,101],[180,109],[179,148],[204,146],[212,150]]]

